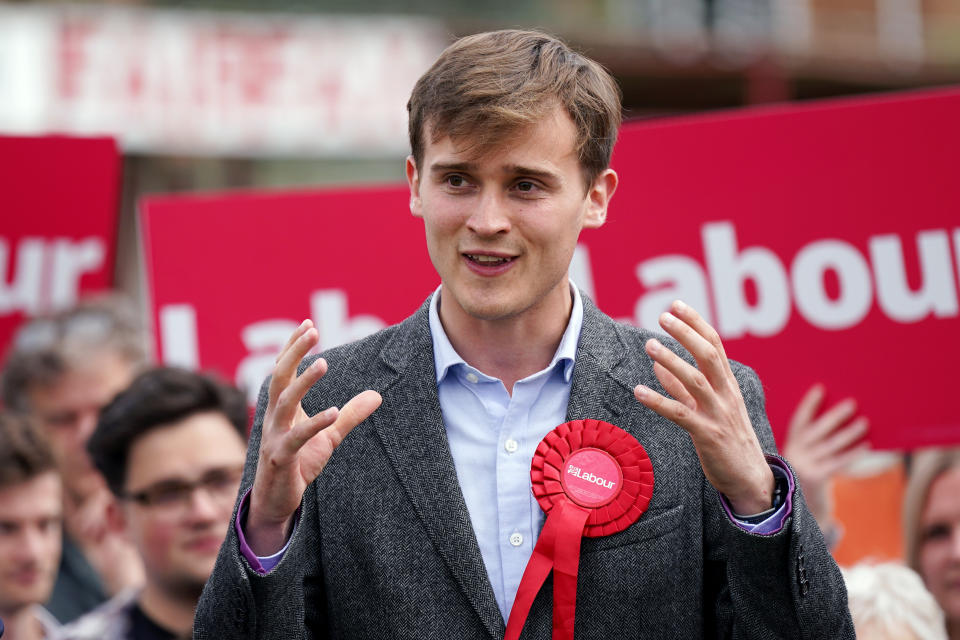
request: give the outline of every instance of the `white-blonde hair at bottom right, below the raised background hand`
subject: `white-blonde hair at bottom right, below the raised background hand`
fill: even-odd
[[[910,631],[917,640],[947,640],[943,611],[912,569],[888,562],[841,572],[857,637],[865,638],[861,634],[869,629],[887,638]]]

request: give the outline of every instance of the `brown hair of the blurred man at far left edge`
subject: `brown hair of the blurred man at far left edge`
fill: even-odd
[[[56,469],[50,445],[30,419],[0,411],[0,489]]]

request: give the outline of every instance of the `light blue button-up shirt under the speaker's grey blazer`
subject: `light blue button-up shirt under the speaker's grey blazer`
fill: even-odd
[[[545,369],[503,383],[470,366],[440,323],[440,289],[430,302],[437,393],[457,480],[470,512],[493,594],[506,620],[533,552],[543,511],[533,497],[530,463],[537,445],[566,422],[583,302],[575,286],[570,322]]]

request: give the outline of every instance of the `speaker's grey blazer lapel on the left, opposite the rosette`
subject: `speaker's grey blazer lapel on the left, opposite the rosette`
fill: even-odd
[[[374,414],[376,430],[427,534],[476,610],[487,632],[502,637],[493,595],[470,514],[457,482],[437,396],[428,304],[404,322],[383,350],[397,372]]]

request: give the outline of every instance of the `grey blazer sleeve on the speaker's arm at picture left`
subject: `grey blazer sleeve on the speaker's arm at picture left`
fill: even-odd
[[[263,415],[270,379],[263,383],[247,446],[239,496],[253,484],[260,451]],[[309,629],[322,629],[323,581],[319,577],[319,532],[314,487],[304,493],[300,521],[280,562],[267,574],[250,567],[240,552],[234,506],[226,540],[197,605],[193,637],[197,640],[314,638]],[[304,603],[315,606],[306,611]]]

